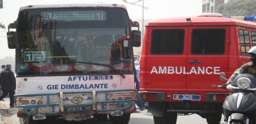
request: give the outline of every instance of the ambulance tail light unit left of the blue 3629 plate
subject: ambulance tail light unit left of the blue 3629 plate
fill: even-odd
[[[165,92],[139,92],[142,100],[166,100]]]

